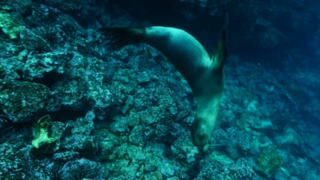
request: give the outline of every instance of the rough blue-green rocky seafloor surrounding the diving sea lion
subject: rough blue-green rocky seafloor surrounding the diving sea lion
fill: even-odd
[[[135,14],[147,2],[133,10],[123,2],[0,1],[0,179],[320,179],[320,75],[295,63],[295,46],[281,69],[232,52],[244,40],[283,44],[271,22],[285,3],[172,1],[190,23],[199,11],[223,19],[225,7],[251,15],[243,39],[230,35],[220,111],[202,154],[190,136],[195,99],[174,66],[145,44],[99,45],[98,27],[153,24]],[[271,7],[270,21],[259,16]],[[307,26],[299,19],[310,13],[285,25]]]

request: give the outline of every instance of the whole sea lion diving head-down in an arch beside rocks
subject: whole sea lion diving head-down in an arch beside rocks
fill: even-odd
[[[174,27],[99,28],[109,48],[142,42],[161,51],[186,79],[197,103],[191,136],[193,144],[207,151],[223,89],[222,68],[227,56],[227,16],[210,58],[201,43],[186,31]]]

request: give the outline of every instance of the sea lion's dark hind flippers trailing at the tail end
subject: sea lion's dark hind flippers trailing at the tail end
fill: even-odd
[[[139,42],[144,34],[144,28],[134,27],[103,27],[97,30],[106,37],[100,45],[106,45],[111,50]]]

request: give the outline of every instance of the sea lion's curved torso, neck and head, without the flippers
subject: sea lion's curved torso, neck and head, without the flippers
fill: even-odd
[[[217,117],[223,89],[222,67],[216,66],[200,42],[181,29],[147,27],[142,42],[165,54],[190,85],[197,103],[192,140],[204,148],[210,142]]]

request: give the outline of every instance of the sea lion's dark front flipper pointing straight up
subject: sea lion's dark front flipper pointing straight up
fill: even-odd
[[[213,60],[216,69],[221,70],[223,68],[224,61],[227,56],[227,43],[228,43],[228,14],[225,15],[225,24],[222,29],[222,33],[215,45],[211,60]]]

